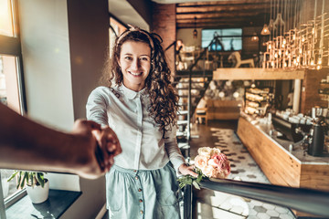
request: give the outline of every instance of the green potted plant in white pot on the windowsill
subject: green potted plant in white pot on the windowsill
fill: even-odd
[[[27,184],[27,194],[32,203],[43,203],[48,199],[49,181],[44,177],[44,172],[15,171],[7,181],[15,177],[17,189],[23,189]]]

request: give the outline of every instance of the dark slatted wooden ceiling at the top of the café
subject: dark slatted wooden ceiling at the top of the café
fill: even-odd
[[[176,5],[177,28],[263,26],[271,0],[188,2]]]

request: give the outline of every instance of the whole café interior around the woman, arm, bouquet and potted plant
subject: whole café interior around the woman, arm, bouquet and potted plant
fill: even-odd
[[[327,0],[0,0],[0,102],[71,130],[115,38],[140,26],[162,36],[186,162],[210,147],[230,163],[182,190],[182,218],[329,218],[328,13]],[[1,219],[109,218],[104,177],[48,172],[47,201],[31,203],[0,171]]]

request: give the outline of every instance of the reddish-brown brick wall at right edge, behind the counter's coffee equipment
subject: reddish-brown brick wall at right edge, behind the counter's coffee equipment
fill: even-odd
[[[318,93],[318,89],[322,86],[321,79],[329,76],[329,68],[322,68],[320,70],[305,70],[305,77],[302,80],[302,95],[301,95],[301,112],[311,113],[314,106],[328,107],[328,101],[323,100]]]

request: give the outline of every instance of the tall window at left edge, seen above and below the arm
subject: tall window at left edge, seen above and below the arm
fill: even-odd
[[[22,56],[16,21],[16,0],[0,0],[0,102],[24,114]],[[7,182],[12,172],[0,170],[4,197],[0,200],[0,208],[20,192],[16,189],[15,180]]]

